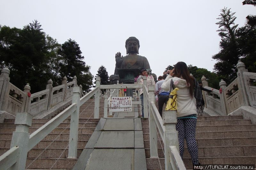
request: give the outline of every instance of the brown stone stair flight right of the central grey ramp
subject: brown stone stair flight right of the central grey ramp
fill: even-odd
[[[159,159],[150,158],[148,119],[141,119],[141,123],[147,169],[164,169],[163,140],[158,132]],[[256,124],[243,116],[198,117],[196,142],[201,164],[256,164]],[[193,168],[186,141],[183,161],[187,169]]]

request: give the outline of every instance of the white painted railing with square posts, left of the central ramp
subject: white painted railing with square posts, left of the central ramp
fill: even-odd
[[[18,113],[15,119],[16,130],[12,134],[11,149],[0,156],[0,169],[24,170],[27,160],[27,153],[53,129],[60,125],[71,115],[68,158],[77,157],[79,108],[84,102],[95,95],[94,118],[99,118],[100,101],[100,78],[96,77],[96,87],[84,97],[81,96],[80,87],[73,88],[72,104],[60,114],[45,123],[32,134],[28,133],[32,125],[32,115],[28,112]],[[96,102],[98,101],[98,102]],[[97,104],[98,103],[98,104]]]

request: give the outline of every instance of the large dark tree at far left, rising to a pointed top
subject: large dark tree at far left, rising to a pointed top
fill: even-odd
[[[11,70],[11,82],[23,89],[26,83],[31,92],[45,89],[49,76],[45,71],[45,33],[36,20],[23,29],[2,26],[0,30],[1,63]]]

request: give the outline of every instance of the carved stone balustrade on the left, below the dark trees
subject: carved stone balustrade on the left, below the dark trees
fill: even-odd
[[[9,75],[10,70],[7,67],[2,69],[0,75],[0,111],[1,113],[7,112],[13,116],[16,116],[17,113],[28,112],[35,117],[46,113],[50,109],[58,109],[58,107],[61,107],[67,102],[71,103],[73,88],[78,86],[76,76],[72,82],[68,83],[65,76],[62,85],[53,87],[53,82],[50,79],[47,82],[46,90],[30,94],[29,84],[27,84],[24,87],[24,91],[22,91],[9,82]],[[79,89],[81,90],[82,97],[81,85]]]

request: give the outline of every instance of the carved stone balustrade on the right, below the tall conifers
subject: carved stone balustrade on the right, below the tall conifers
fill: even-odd
[[[205,109],[208,115],[228,115],[242,106],[256,108],[256,73],[248,72],[244,63],[238,61],[237,78],[228,86],[225,81],[220,81],[220,90],[208,87],[206,78],[202,77],[203,87],[212,90],[210,92],[202,91]]]

